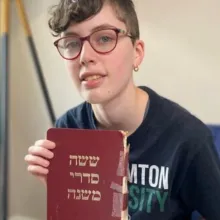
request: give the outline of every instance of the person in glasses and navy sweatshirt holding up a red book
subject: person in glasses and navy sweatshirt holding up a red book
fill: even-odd
[[[48,23],[84,99],[55,127],[128,131],[130,218],[185,220],[197,210],[220,219],[220,160],[211,132],[179,104],[134,83],[145,45],[132,0],[61,0]],[[45,184],[55,147],[38,140],[25,156],[28,172]]]

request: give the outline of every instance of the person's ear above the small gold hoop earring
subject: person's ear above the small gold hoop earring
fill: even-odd
[[[145,47],[142,40],[136,40],[134,43],[134,67],[139,67],[144,59]]]

